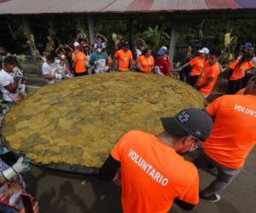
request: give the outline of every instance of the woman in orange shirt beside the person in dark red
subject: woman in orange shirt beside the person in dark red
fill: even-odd
[[[143,54],[137,59],[137,67],[140,72],[152,72],[154,68],[154,57],[151,50],[143,49]]]

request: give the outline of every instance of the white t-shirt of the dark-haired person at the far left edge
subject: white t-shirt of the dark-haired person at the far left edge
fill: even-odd
[[[0,89],[3,95],[3,101],[15,101],[18,93],[12,93],[8,89],[5,89],[10,83],[14,83],[15,79],[9,72],[5,72],[3,69],[0,71]]]

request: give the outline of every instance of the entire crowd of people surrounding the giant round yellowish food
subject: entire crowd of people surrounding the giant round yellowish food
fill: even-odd
[[[60,45],[55,52],[45,55],[43,78],[52,84],[65,78],[104,72],[153,72],[189,83],[207,98],[219,74],[224,72],[228,80],[227,95],[213,101],[206,111],[184,109],[175,117],[161,118],[165,131],[160,135],[138,130],[128,132],[113,147],[98,175],[104,181],[121,178],[124,212],[167,212],[173,203],[191,210],[199,199],[217,202],[218,192],[239,175],[256,141],[252,131],[256,128],[253,44],[246,43],[241,55],[225,67],[218,63],[219,49],[203,47],[193,51],[189,46],[182,66],[173,68],[165,46],[152,55],[147,44],[142,43],[140,46],[134,43],[131,48],[130,43],[120,38],[115,43],[113,57],[108,55],[108,39],[102,35],[96,37],[92,46],[86,39],[75,41],[73,47]],[[5,107],[26,95],[26,78],[15,55],[7,55],[3,48],[0,48],[0,65],[3,118],[8,110]],[[193,153],[198,148],[201,153],[193,164],[179,155]],[[26,158],[19,158],[14,164],[2,161],[0,158],[0,210],[14,207],[24,212],[20,199],[15,203],[9,200],[17,193],[18,197],[26,196],[20,176],[27,170]],[[216,179],[201,192],[196,168],[217,170]],[[38,212],[37,203],[32,208]]]

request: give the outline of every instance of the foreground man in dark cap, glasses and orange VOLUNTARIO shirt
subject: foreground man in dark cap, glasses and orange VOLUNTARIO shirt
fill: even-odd
[[[198,172],[178,153],[207,139],[212,118],[204,110],[186,109],[161,121],[160,135],[131,130],[122,136],[99,171],[101,180],[110,181],[120,168],[125,213],[166,213],[173,202],[191,210],[199,202]]]

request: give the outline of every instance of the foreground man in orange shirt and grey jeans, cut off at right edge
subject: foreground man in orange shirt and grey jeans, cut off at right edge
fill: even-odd
[[[207,113],[214,118],[212,133],[194,163],[201,169],[218,169],[217,178],[200,194],[201,199],[217,202],[217,193],[239,175],[256,143],[255,78],[244,95],[221,96],[207,107]]]

